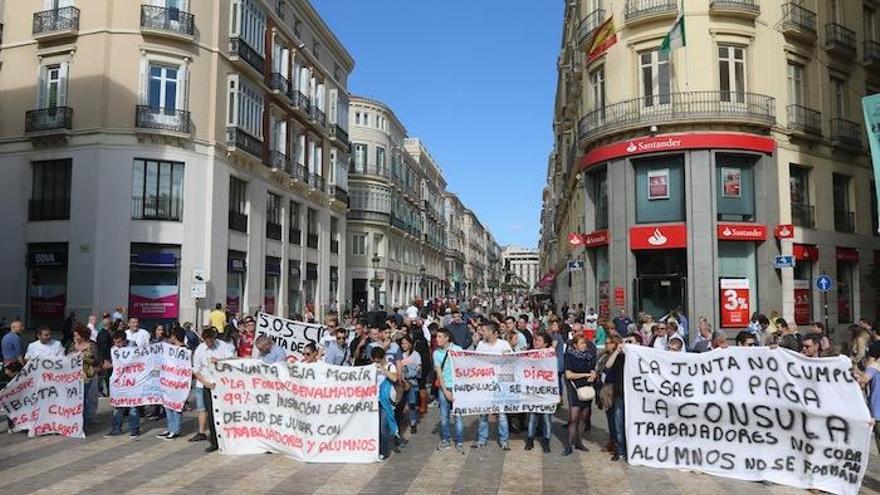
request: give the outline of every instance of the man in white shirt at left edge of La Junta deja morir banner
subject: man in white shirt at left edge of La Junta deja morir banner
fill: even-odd
[[[214,424],[214,407],[211,401],[211,389],[214,382],[209,376],[209,370],[217,361],[235,357],[235,349],[217,338],[217,330],[207,327],[202,330],[202,343],[196,347],[193,353],[193,377],[196,379],[196,411],[199,412],[199,432],[190,442],[208,440],[211,445],[205,452],[214,452],[219,448],[217,445],[217,429]],[[206,431],[208,427],[208,431]],[[210,433],[208,437],[207,433]]]

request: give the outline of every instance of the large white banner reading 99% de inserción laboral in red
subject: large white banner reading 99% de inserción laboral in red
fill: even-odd
[[[378,460],[375,366],[236,359],[218,361],[209,373],[222,453],[276,452],[307,462]]]

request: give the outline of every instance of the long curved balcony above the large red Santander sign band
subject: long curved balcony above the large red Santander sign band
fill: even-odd
[[[579,139],[667,122],[741,122],[770,127],[776,104],[770,96],[730,91],[692,91],[634,98],[593,110],[578,123]]]

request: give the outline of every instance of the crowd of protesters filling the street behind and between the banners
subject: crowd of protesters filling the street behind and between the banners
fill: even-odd
[[[436,299],[414,301],[405,308],[378,308],[337,315],[331,313],[323,323],[328,328],[321,342],[303,349],[302,360],[318,360],[340,366],[374,365],[378,369],[380,458],[392,450],[406,447],[408,435],[418,434],[429,404],[439,412],[438,450],[453,447],[464,453],[465,432],[461,416],[452,413],[455,401],[451,350],[508,353],[528,349],[555,350],[558,362],[559,404],[567,416],[558,426],[563,439],[562,455],[587,451],[585,436],[592,429],[593,405],[603,410],[608,424],[604,450],[610,459],[626,458],[624,403],[624,363],[627,346],[650,346],[669,352],[712,352],[729,345],[782,347],[807,357],[843,354],[853,363],[853,372],[869,393],[872,417],[880,419],[880,342],[870,322],[862,319],[849,327],[849,335],[836,342],[819,322],[803,331],[778,314],[756,313],[746,329],[735,335],[715,330],[704,317],[691,322],[681,309],[655,318],[649,314],[630,317],[625,310],[614,315],[597,314],[582,304],[563,305],[559,311],[549,301],[537,302],[523,295],[495,298]],[[311,308],[294,319],[314,322]],[[190,442],[207,441],[207,452],[218,449],[212,418],[210,389],[213,383],[205,373],[217,360],[257,356],[267,364],[292,361],[271,338],[256,336],[252,315],[230,314],[217,304],[207,317],[208,324],[197,330],[191,323],[156,325],[152,331],[140,327],[137,318],[126,318],[125,308],[117,307],[101,319],[90,316],[86,324],[71,315],[65,323],[62,341],[52,338],[48,327],[36,331],[37,339],[22,348],[23,325],[13,321],[2,338],[4,375],[11,379],[30,359],[81,353],[84,363],[84,425],[95,423],[98,396],[108,397],[112,372],[112,347],[146,346],[167,342],[193,352],[194,386],[192,408],[198,415],[198,431]],[[69,325],[68,325],[69,324]],[[69,326],[69,332],[67,327]],[[254,348],[256,353],[254,354]],[[584,395],[584,388],[594,394]],[[140,435],[144,416],[167,424],[158,435],[163,440],[181,436],[182,414],[160,406],[120,407],[113,413],[109,436],[122,434],[128,422],[132,438]],[[498,446],[510,449],[511,434],[523,434],[525,449],[533,450],[535,440],[544,453],[551,452],[554,418],[550,414],[505,413],[478,418],[471,448],[484,448],[494,419]],[[561,420],[556,421],[561,423]],[[429,428],[430,430],[430,428]],[[880,436],[878,445],[880,445]]]

